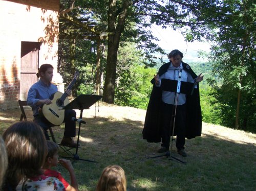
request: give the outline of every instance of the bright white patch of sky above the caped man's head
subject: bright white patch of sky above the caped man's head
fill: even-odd
[[[156,42],[168,54],[174,49],[178,49],[183,53],[183,60],[191,61],[206,61],[198,58],[198,51],[209,51],[210,44],[207,42],[186,42],[179,31],[174,31],[171,28],[162,29],[160,26],[153,25],[153,35],[160,41]]]

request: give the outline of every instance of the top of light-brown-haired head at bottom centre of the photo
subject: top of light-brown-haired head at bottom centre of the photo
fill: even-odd
[[[126,178],[121,166],[107,166],[99,179],[97,191],[126,191]]]

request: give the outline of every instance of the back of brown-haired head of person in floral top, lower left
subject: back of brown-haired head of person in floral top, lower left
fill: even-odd
[[[6,181],[13,189],[20,180],[42,174],[47,155],[46,138],[40,126],[33,122],[18,122],[3,134],[8,154]]]

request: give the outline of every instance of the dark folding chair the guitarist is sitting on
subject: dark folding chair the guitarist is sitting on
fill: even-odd
[[[22,113],[20,114],[20,118],[19,118],[19,121],[23,121],[23,119],[25,121],[28,121],[27,120],[27,116],[26,116],[26,113],[25,113],[25,110],[24,110],[24,106],[28,106],[27,104],[27,101],[21,101],[21,100],[18,100],[18,104],[19,104],[19,107],[20,107],[20,111],[22,111]],[[52,141],[57,143],[56,142],[56,139],[55,139],[55,136],[53,134],[53,131],[52,131],[52,127],[49,127],[49,131],[50,131],[50,135],[49,137],[51,137]],[[59,148],[62,150],[61,153],[67,153],[68,155],[73,155],[73,153],[71,153],[70,150],[74,149],[72,147],[67,147],[67,146],[63,146],[61,144],[58,144],[59,145]]]

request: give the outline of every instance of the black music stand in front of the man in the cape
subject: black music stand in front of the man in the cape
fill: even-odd
[[[158,156],[153,156],[153,157],[149,157],[149,158],[157,158],[157,157],[162,157],[162,156],[166,156],[166,158],[170,157],[170,158],[174,158],[182,163],[186,163],[174,156],[171,156],[171,151],[172,151],[172,146],[173,146],[173,140],[174,140],[174,128],[175,128],[175,118],[176,118],[176,109],[177,109],[177,101],[178,101],[178,96],[179,93],[184,93],[184,94],[193,94],[194,92],[194,88],[195,88],[195,83],[190,83],[190,82],[183,82],[181,80],[170,80],[170,79],[162,79],[161,80],[161,90],[162,91],[171,91],[171,92],[175,92],[175,97],[174,97],[174,106],[173,107],[173,112],[172,112],[172,120],[170,121],[170,126],[173,124],[173,132],[172,132],[172,142],[170,145],[170,151],[167,151],[165,154],[163,155],[158,155]],[[175,104],[176,103],[176,104]],[[174,114],[174,109],[175,109],[175,114]],[[169,160],[172,160],[170,159]]]

